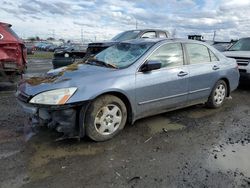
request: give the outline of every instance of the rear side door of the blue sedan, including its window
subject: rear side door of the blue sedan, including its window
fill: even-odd
[[[189,60],[188,101],[206,100],[218,80],[218,58],[203,44],[186,43],[185,49]]]

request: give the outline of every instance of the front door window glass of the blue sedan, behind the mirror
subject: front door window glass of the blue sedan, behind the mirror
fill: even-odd
[[[183,52],[181,44],[171,43],[161,46],[153,52],[153,54],[148,58],[148,61],[160,62],[161,68],[183,65]]]

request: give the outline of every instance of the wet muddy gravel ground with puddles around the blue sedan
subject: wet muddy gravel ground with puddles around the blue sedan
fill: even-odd
[[[50,68],[31,60],[28,73]],[[1,91],[0,187],[250,187],[249,82],[232,98],[142,119],[107,142],[55,142]]]

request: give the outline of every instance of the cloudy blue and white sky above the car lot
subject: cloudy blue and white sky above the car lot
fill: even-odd
[[[0,0],[0,22],[22,38],[110,39],[125,30],[157,28],[175,37],[250,36],[250,0]]]

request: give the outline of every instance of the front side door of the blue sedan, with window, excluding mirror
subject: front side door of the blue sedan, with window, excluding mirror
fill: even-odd
[[[156,49],[149,61],[161,62],[161,68],[136,73],[136,103],[139,117],[157,114],[184,105],[188,95],[188,69],[184,65],[180,43],[167,43]]]

